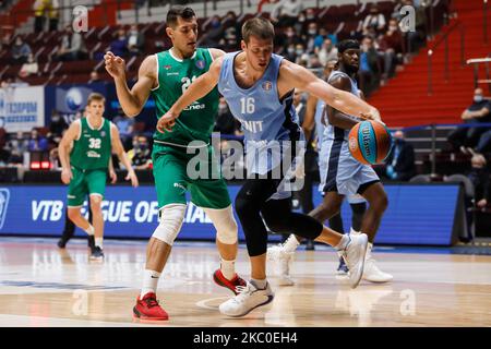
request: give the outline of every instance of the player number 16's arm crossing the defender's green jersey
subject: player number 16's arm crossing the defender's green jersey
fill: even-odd
[[[223,58],[215,60],[209,70],[197,77],[182,94],[182,96],[173,104],[157,122],[157,130],[160,132],[171,131],[173,120],[176,120],[181,111],[193,101],[206,96],[218,84],[220,76]]]

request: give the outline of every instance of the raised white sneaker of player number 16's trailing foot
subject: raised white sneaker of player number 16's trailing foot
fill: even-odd
[[[350,236],[351,241],[345,251],[343,257],[348,265],[348,276],[351,288],[356,288],[360,284],[363,275],[364,255],[367,254],[368,237],[364,233],[359,236]]]

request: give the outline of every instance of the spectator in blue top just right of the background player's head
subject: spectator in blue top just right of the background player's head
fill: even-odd
[[[369,97],[380,84],[379,52],[373,39],[369,36],[361,41],[359,76],[361,91],[366,97]]]

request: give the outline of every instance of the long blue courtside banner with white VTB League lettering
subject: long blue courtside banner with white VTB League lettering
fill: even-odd
[[[229,185],[232,202],[240,190]],[[450,245],[457,207],[458,185],[385,186],[388,208],[382,219],[376,243]],[[67,186],[3,185],[0,186],[0,236],[36,234],[57,237],[64,225]],[[319,192],[314,204],[321,203]],[[86,203],[83,213],[86,214]],[[158,225],[155,189],[149,185],[108,185],[103,202],[105,236],[115,238],[149,238]],[[342,208],[345,231],[349,231],[351,209]],[[236,217],[237,219],[237,217]],[[82,231],[79,236],[85,234]],[[184,224],[178,239],[214,240],[215,229],[203,209],[188,205]],[[239,238],[244,240],[239,224]],[[271,234],[270,240],[279,240]]]

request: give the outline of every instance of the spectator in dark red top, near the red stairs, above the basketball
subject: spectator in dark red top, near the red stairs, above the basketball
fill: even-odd
[[[393,77],[397,62],[403,63],[403,34],[396,20],[388,21],[387,32],[380,39],[380,49],[384,52],[384,73]]]

